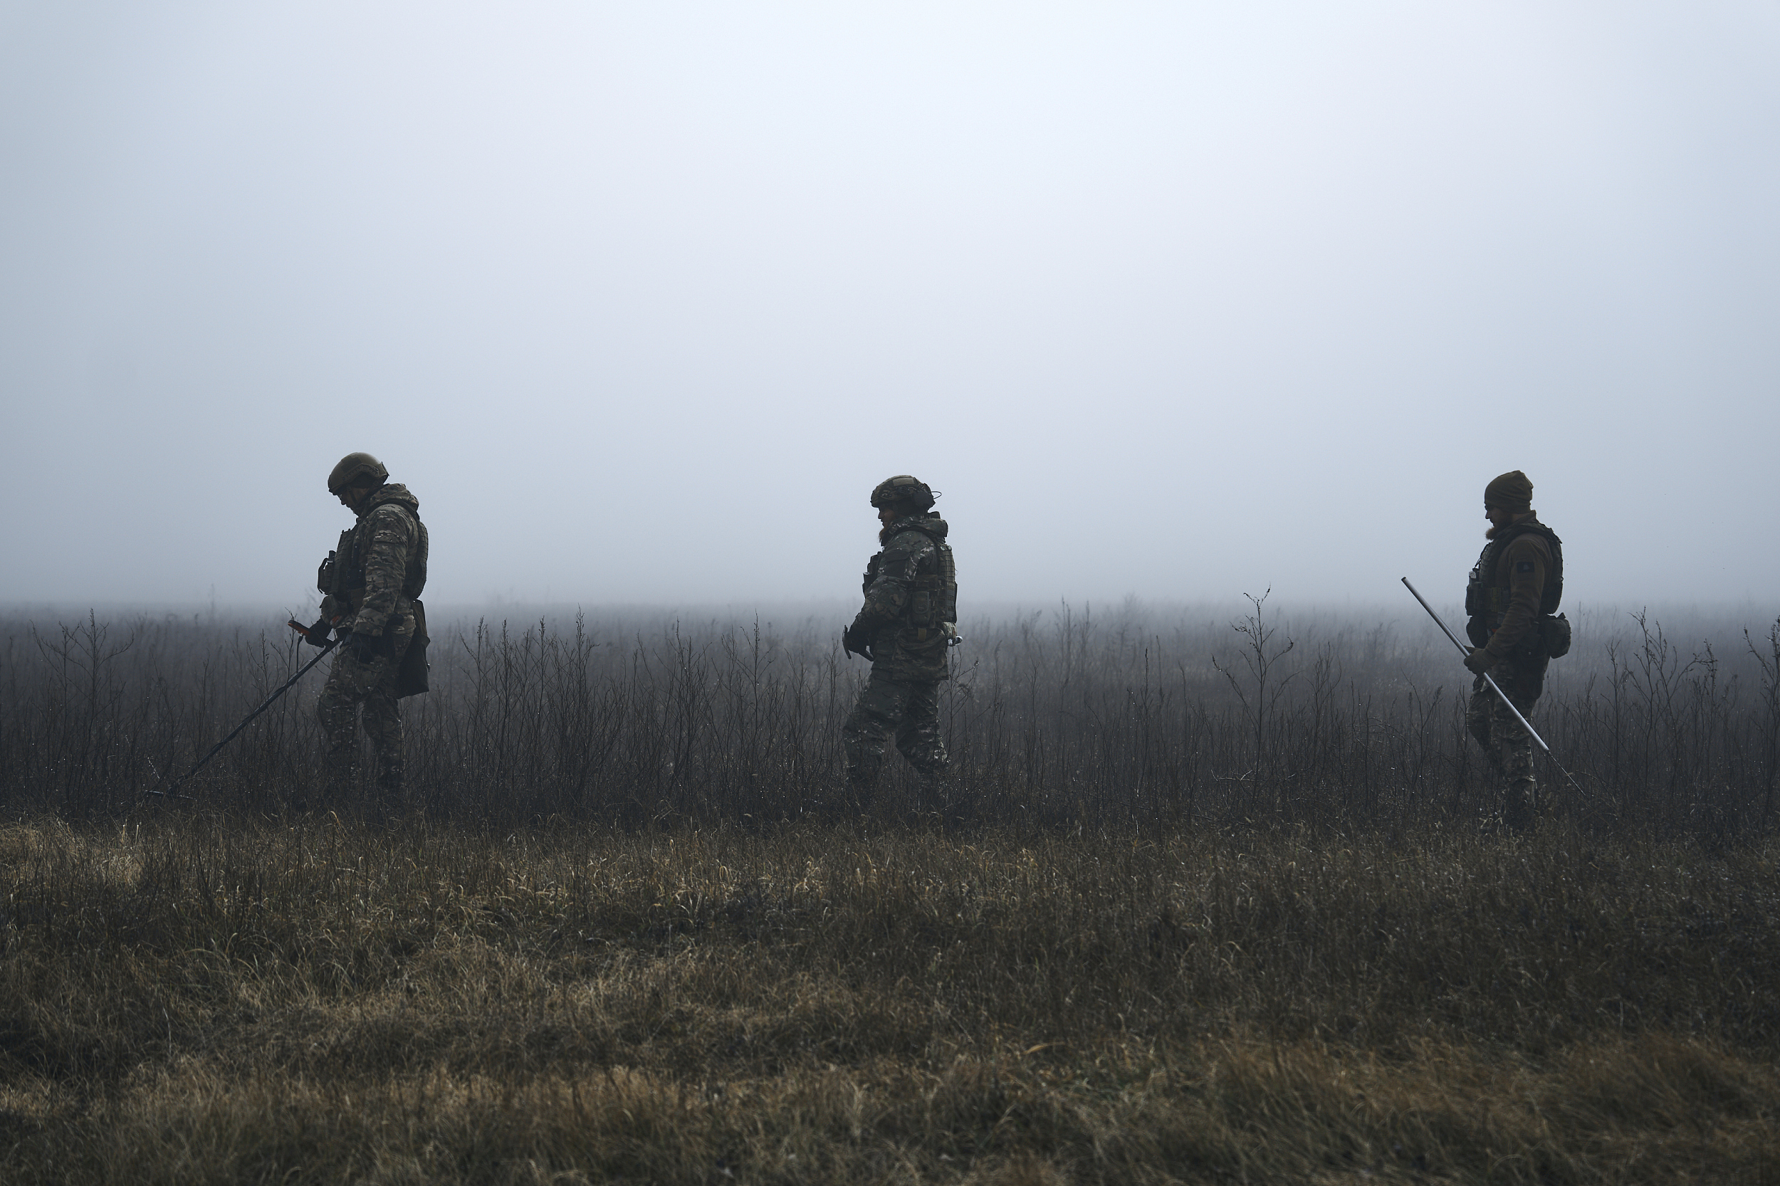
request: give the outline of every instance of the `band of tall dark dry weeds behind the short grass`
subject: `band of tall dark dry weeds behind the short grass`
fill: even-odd
[[[1579,614],[1536,725],[1575,775],[1552,803],[1597,832],[1727,837],[1775,821],[1780,634]],[[780,821],[837,801],[860,680],[835,623],[628,616],[438,627],[406,702],[408,807],[550,817]],[[943,727],[949,803],[888,810],[1036,826],[1399,828],[1488,816],[1463,728],[1470,677],[1426,621],[1145,613],[965,623]],[[1716,638],[1714,638],[1716,636]],[[1698,639],[1698,641],[1695,641]],[[310,657],[283,627],[146,616],[0,621],[0,801],[109,816],[166,785]],[[315,805],[322,671],[192,785],[206,803]],[[892,764],[895,766],[895,764]],[[349,810],[352,803],[328,805]]]

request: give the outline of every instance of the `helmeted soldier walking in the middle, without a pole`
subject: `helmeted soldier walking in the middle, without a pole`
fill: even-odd
[[[934,491],[906,474],[872,490],[883,550],[865,565],[865,605],[840,634],[846,652],[872,664],[870,680],[842,727],[847,789],[870,801],[894,735],[933,796],[949,764],[940,737],[945,652],[958,639],[958,572]]]

